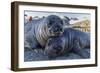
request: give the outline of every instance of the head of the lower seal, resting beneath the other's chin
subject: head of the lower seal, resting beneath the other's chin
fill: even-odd
[[[45,47],[45,54],[49,59],[53,59],[62,54],[63,41],[59,37],[50,38]]]

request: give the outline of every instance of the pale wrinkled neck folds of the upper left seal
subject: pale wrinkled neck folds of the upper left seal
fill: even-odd
[[[35,32],[36,32],[36,39],[38,40],[40,45],[44,47],[46,41],[48,40],[48,37],[50,36],[46,20],[41,22],[41,24],[36,25]]]

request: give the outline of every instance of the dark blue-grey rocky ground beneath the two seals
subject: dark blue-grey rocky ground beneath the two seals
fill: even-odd
[[[84,49],[88,52],[88,56],[90,56],[90,49]],[[52,60],[73,60],[73,59],[82,59],[81,56],[75,54],[75,53],[68,53],[66,55],[55,57]],[[44,51],[42,49],[27,49],[24,50],[24,61],[46,61],[49,60],[48,56],[44,54]]]

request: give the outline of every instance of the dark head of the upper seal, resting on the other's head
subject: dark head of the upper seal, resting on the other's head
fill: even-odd
[[[47,17],[47,27],[50,36],[58,36],[63,32],[63,20],[56,15],[50,15]]]

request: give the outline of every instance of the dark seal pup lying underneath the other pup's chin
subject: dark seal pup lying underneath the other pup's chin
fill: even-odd
[[[65,28],[62,35],[48,39],[44,53],[49,59],[61,56],[70,52],[80,55],[82,58],[89,58],[89,53],[82,48],[90,47],[89,33],[73,28]]]

